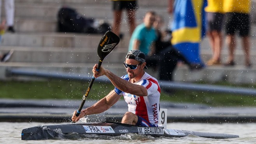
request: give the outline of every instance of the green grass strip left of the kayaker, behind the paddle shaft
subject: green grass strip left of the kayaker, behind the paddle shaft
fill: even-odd
[[[13,99],[82,99],[89,82],[68,80],[0,82],[0,98]],[[109,93],[114,86],[95,82],[90,97],[99,99]],[[89,96],[88,96],[89,98]]]

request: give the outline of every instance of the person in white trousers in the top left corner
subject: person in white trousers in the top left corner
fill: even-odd
[[[14,0],[5,0],[5,19],[7,22],[7,31],[12,33],[15,32],[14,30]],[[1,15],[1,7],[2,7],[2,0],[0,0],[0,15]]]

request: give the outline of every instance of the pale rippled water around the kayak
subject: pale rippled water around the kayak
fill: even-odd
[[[42,140],[42,141],[21,141],[21,131],[24,128],[41,126],[41,125],[54,125],[62,123],[8,123],[0,122],[0,142],[8,144],[70,144],[77,142],[86,142],[86,144],[111,144],[111,143],[158,143],[158,144],[256,144],[256,123],[224,123],[224,124],[207,124],[207,123],[168,123],[167,128],[191,130],[199,132],[212,132],[212,133],[225,133],[239,135],[239,138],[234,139],[207,139],[203,137],[196,137],[193,135],[182,138],[154,138],[150,136],[126,134],[119,137],[84,137],[74,140]]]

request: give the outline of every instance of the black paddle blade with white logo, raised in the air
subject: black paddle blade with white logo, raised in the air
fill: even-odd
[[[103,59],[112,52],[116,45],[119,43],[120,38],[114,34],[112,31],[107,31],[102,39],[100,40],[100,43],[98,45],[98,56],[103,61]]]

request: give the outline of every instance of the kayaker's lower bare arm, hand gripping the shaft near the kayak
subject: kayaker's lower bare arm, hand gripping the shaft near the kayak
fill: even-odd
[[[75,116],[77,111],[74,111],[72,116],[72,121],[78,121],[80,118],[84,117],[85,115],[93,115],[93,114],[104,112],[108,110],[111,106],[113,106],[120,99],[120,97],[121,95],[116,94],[116,92],[112,90],[108,95],[106,95],[100,101],[93,104],[93,106],[82,110],[78,117]]]

